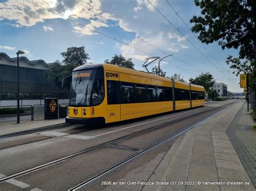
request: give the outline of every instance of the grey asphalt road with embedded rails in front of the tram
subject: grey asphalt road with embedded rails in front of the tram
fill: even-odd
[[[124,123],[39,132],[21,137],[0,139],[0,178],[3,178],[4,176],[19,173],[88,148],[173,121],[173,123],[161,125],[159,128],[79,154],[51,166],[23,174],[15,179],[1,182],[0,190],[19,190],[23,188],[28,190],[33,188],[41,190],[70,189],[160,140],[235,103],[231,101],[216,102],[201,108],[145,117]],[[191,115],[194,116],[189,117]],[[131,162],[131,166],[127,168],[129,171],[125,171],[127,166],[120,168],[119,171],[122,173],[118,173],[119,176],[132,177],[133,173],[138,173],[142,180],[146,179],[147,174],[151,172],[151,168],[156,167],[158,160],[163,158],[171,145],[172,142],[168,142],[145,154],[142,157],[143,160],[139,158]],[[143,168],[143,166],[150,166],[150,168]],[[111,179],[111,174],[109,178]],[[107,185],[95,182],[89,186],[88,188],[90,189],[104,189]],[[87,188],[84,187],[83,189]]]

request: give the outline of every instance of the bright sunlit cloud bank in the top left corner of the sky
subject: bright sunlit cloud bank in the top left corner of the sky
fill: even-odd
[[[99,0],[80,0],[79,2],[96,13],[102,12],[100,10],[101,3]],[[96,17],[95,13],[88,11],[83,6],[77,4],[75,1],[49,0],[32,1],[32,3],[35,3],[45,9],[49,9],[65,17],[80,17],[85,19]],[[12,25],[15,27],[21,27],[33,26],[38,22],[44,22],[46,19],[62,18],[32,3],[27,1],[19,1],[17,3],[16,0],[9,0],[0,3],[0,20],[14,20],[15,23]]]

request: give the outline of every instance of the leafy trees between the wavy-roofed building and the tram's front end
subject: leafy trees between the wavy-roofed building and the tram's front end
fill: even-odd
[[[70,47],[67,48],[66,52],[60,53],[64,60],[62,62],[55,61],[50,65],[49,69],[45,72],[46,77],[49,81],[55,83],[58,88],[62,88],[62,79],[72,73],[72,70],[78,66],[87,63],[89,54],[82,47]],[[70,83],[66,83],[66,88],[70,87]]]

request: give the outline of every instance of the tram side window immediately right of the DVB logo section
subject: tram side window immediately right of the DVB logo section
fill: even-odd
[[[122,83],[122,103],[134,103],[134,84]]]

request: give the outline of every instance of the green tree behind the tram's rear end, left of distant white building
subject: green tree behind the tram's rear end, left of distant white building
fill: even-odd
[[[190,83],[203,86],[206,91],[210,90],[210,88],[215,83],[215,80],[213,80],[213,76],[208,73],[201,73],[199,76],[197,76],[195,79],[190,79]]]

